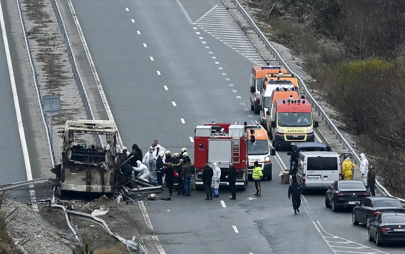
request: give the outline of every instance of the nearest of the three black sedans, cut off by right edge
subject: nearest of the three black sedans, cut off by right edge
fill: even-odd
[[[379,213],[369,226],[369,241],[376,242],[377,246],[388,242],[405,241],[405,214]]]

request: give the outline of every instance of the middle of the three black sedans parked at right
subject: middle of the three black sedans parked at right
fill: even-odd
[[[360,205],[353,208],[352,223],[358,225],[364,223],[369,227],[371,221],[382,212],[405,213],[405,208],[401,202],[392,197],[373,196],[363,199]]]

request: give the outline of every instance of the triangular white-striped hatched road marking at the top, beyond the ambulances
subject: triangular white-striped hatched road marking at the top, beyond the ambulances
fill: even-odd
[[[239,24],[224,6],[214,6],[213,9],[194,22],[194,25],[199,26],[205,32],[211,34],[249,60],[252,60],[252,62],[264,64],[262,57],[256,52],[249,38],[247,38]],[[249,48],[249,50],[244,50],[242,46]],[[237,50],[241,48],[246,52]]]

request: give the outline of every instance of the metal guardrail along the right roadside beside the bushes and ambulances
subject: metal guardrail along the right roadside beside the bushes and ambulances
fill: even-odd
[[[233,4],[237,6],[237,9],[239,12],[243,15],[243,17],[246,19],[247,23],[249,23],[250,27],[254,32],[258,35],[258,37],[262,40],[263,44],[266,45],[266,48],[271,51],[273,54],[273,57],[276,59],[276,61],[279,62],[280,65],[284,66],[289,73],[294,74],[294,76],[298,79],[298,83],[300,85],[300,89],[303,94],[305,94],[305,98],[311,102],[312,107],[314,107],[315,111],[318,112],[318,116],[322,117],[322,121],[325,121],[325,124],[328,126],[329,130],[332,131],[333,134],[335,134],[335,138],[339,140],[339,143],[342,144],[343,149],[346,149],[351,152],[354,156],[354,159],[358,164],[360,164],[360,157],[357,155],[356,151],[354,151],[353,147],[350,145],[349,142],[343,137],[341,132],[338,130],[338,128],[335,126],[335,124],[332,122],[332,120],[329,118],[329,116],[326,114],[324,109],[319,105],[319,103],[313,98],[311,93],[309,92],[307,85],[305,85],[305,82],[301,77],[296,75],[294,71],[288,66],[286,61],[283,60],[279,52],[271,45],[267,37],[263,34],[263,32],[260,30],[260,28],[256,25],[252,17],[247,13],[247,11],[243,8],[242,4],[238,0],[232,0]],[[382,184],[379,183],[379,181],[375,181],[378,190],[384,195],[384,196],[392,196]],[[397,198],[399,199],[399,198]],[[403,205],[405,205],[405,200],[404,199],[399,199]]]

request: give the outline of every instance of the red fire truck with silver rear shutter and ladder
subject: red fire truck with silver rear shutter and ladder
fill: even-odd
[[[245,122],[245,124],[247,124]],[[229,163],[236,167],[236,187],[241,190],[247,185],[247,142],[246,125],[211,124],[198,125],[194,130],[194,166],[196,188],[203,187],[202,175],[205,162],[221,169],[220,186],[228,185]]]

